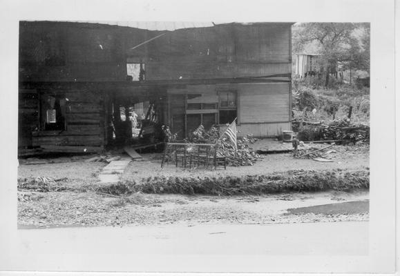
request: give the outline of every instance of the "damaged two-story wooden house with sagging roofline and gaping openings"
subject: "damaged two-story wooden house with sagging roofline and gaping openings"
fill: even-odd
[[[20,149],[99,152],[235,118],[238,136],[291,129],[292,23],[142,25],[20,22]]]

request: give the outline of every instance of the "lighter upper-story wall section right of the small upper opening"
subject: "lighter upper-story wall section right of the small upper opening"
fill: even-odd
[[[290,74],[290,36],[289,23],[183,29],[128,55],[144,61],[148,80]]]

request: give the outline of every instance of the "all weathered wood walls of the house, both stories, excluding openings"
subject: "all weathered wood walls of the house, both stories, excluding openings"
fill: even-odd
[[[134,48],[159,34],[164,35]],[[187,131],[185,95],[216,95],[219,89],[232,88],[238,92],[239,128],[257,136],[278,134],[283,128],[287,129],[290,119],[290,37],[290,23],[232,23],[164,32],[91,23],[22,21],[19,81],[31,83],[29,87],[33,89],[23,92],[25,87],[20,84],[19,146],[105,145],[109,138],[109,95],[118,89],[110,83],[126,83],[127,60],[143,62],[146,81],[161,81],[162,89],[162,81],[177,79],[237,81],[240,77],[286,75],[275,78],[286,83],[221,83],[170,88],[167,103],[168,123],[183,137]],[[109,83],[102,92],[84,88],[59,89],[59,84],[51,84],[85,81]],[[39,82],[50,85],[42,89]],[[35,86],[35,83],[39,84]],[[46,93],[62,93],[68,99],[66,130],[40,129],[39,97]],[[123,93],[120,94],[124,99]],[[135,93],[130,94],[134,97]],[[146,97],[151,97],[151,93],[146,92]],[[208,121],[213,119],[212,115],[205,117]],[[191,120],[191,124],[195,123],[196,120]],[[39,131],[32,137],[30,133],[35,128]]]

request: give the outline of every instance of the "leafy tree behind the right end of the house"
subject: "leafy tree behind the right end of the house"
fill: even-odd
[[[329,83],[330,66],[337,61],[347,68],[369,71],[369,23],[303,23],[294,28],[293,41],[294,51],[316,49],[319,66],[325,73],[325,87]]]

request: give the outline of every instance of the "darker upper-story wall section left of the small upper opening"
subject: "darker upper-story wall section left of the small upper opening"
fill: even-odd
[[[146,30],[104,24],[21,21],[20,81],[124,81],[126,36]]]

